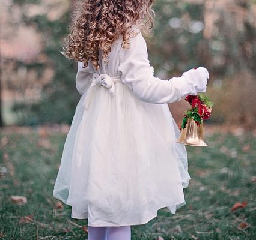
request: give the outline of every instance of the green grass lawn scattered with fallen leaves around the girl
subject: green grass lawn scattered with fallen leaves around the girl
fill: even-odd
[[[71,207],[52,196],[65,138],[55,129],[1,131],[0,239],[87,239],[87,220],[70,218]],[[163,208],[149,223],[132,226],[132,239],[256,239],[255,134],[214,133],[205,140],[207,148],[187,146],[187,204],[175,215]],[[243,201],[245,208],[231,211]]]

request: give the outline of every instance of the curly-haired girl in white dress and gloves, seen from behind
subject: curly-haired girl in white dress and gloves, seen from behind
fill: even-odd
[[[141,31],[153,24],[153,0],[85,0],[64,55],[78,61],[81,94],[64,145],[53,196],[88,218],[89,240],[130,239],[186,202],[187,152],[168,104],[205,92],[206,68],[154,77]]]

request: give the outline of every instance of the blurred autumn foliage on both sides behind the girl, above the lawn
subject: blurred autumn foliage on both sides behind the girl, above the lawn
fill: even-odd
[[[11,108],[15,122],[70,123],[79,100],[75,88],[76,64],[60,51],[69,32],[71,6],[75,1],[5,2],[9,2],[10,16],[15,16],[15,11],[20,16],[19,21],[11,17],[6,28],[12,31],[17,25],[32,28],[41,44],[40,52],[29,61],[15,55],[2,56],[4,89],[19,92],[18,97],[14,94]],[[41,11],[31,14],[36,7]],[[256,109],[251,108],[252,98],[248,96],[253,97],[256,91],[255,1],[156,0],[154,11],[154,33],[145,37],[155,76],[170,79],[195,66],[207,67],[210,71],[207,95],[215,101],[209,122],[252,127]],[[15,37],[15,32],[4,35],[8,37]],[[47,71],[51,76],[44,81]],[[29,97],[28,89],[38,92],[37,97]],[[182,118],[184,104],[170,104],[174,117]]]

